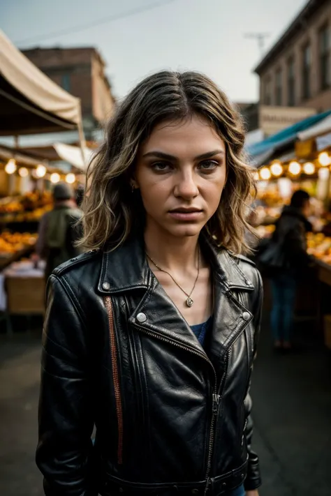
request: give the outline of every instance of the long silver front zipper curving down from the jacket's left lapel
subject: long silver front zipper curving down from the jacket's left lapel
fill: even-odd
[[[212,370],[214,372],[214,389],[212,393],[212,420],[210,423],[210,430],[209,430],[209,446],[208,446],[208,453],[207,453],[207,469],[206,469],[206,479],[207,479],[207,484],[206,484],[206,491],[209,486],[209,474],[210,474],[210,469],[212,468],[212,452],[214,449],[214,436],[215,436],[215,419],[216,416],[219,412],[219,400],[221,396],[217,393],[217,376],[216,376],[216,370],[214,369],[214,366],[212,362],[205,356],[203,353],[199,353],[196,350],[193,350],[189,346],[184,346],[182,344],[177,343],[175,340],[167,339],[164,338],[163,336],[159,336],[159,334],[154,333],[152,331],[147,331],[147,329],[144,329],[141,326],[138,326],[139,329],[141,329],[145,334],[152,336],[153,338],[157,338],[161,341],[164,341],[165,343],[170,343],[171,345],[175,345],[179,348],[182,348],[182,350],[186,350],[190,353],[193,353],[197,356],[200,356],[202,359],[207,361],[209,365],[212,367]]]

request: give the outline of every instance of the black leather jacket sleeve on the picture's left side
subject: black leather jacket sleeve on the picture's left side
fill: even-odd
[[[92,467],[93,398],[87,331],[79,302],[50,276],[43,329],[36,463],[46,496],[96,496]]]

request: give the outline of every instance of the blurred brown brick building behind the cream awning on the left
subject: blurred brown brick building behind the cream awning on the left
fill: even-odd
[[[105,75],[105,62],[95,48],[34,48],[22,52],[50,79],[80,98],[87,137],[110,116],[115,99]]]

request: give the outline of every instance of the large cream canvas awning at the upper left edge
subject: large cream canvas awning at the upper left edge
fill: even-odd
[[[0,135],[82,128],[80,100],[34,66],[0,30]]]

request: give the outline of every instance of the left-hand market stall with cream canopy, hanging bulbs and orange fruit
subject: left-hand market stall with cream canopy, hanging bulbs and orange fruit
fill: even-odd
[[[79,132],[80,167],[76,170],[82,174],[88,158],[80,100],[52,82],[0,31],[0,136],[15,137],[15,149],[0,147],[0,270],[7,267],[1,276],[8,302],[13,301],[11,296],[20,296],[14,306],[8,303],[12,313],[25,313],[31,297],[38,304],[33,303],[30,310],[43,311],[42,268],[36,286],[34,269],[22,269],[22,264],[26,268],[31,262],[19,260],[34,249],[38,220],[52,206],[50,185],[60,180],[73,184],[78,179],[78,174],[64,174],[52,167],[47,158],[22,152],[18,137],[69,129]]]

